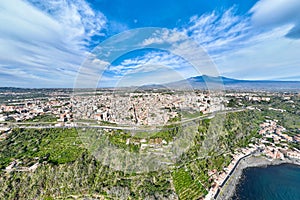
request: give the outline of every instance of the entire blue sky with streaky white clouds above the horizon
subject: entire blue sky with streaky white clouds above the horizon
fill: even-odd
[[[1,1],[0,87],[131,86],[209,73],[300,81],[299,10],[299,0]]]

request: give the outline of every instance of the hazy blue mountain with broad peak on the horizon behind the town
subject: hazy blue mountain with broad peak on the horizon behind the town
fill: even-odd
[[[300,81],[238,80],[223,76],[196,76],[166,84],[169,88],[224,88],[238,90],[300,91]]]

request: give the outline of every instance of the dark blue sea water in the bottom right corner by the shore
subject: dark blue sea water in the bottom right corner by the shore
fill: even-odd
[[[282,164],[247,168],[232,200],[300,200],[300,167]]]

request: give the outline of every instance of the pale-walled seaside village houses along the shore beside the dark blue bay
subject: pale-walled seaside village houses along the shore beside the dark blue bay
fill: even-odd
[[[300,161],[300,150],[289,148],[288,145],[292,142],[299,143],[300,134],[291,137],[286,133],[286,129],[277,123],[277,120],[266,120],[260,125],[259,134],[261,135],[261,138],[258,142],[234,152],[231,163],[223,172],[217,173],[216,170],[209,172],[209,176],[214,180],[214,184],[205,199],[209,200],[216,197],[220,192],[220,189],[232,175],[234,169],[238,166],[239,162],[253,154],[263,155],[270,161],[277,159],[284,160],[286,158]]]

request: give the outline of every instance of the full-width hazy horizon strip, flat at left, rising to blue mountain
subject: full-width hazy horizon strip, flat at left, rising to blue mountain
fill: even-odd
[[[124,89],[124,87],[121,87]],[[121,89],[120,88],[120,89]],[[265,90],[265,91],[292,91],[300,93],[300,81],[270,81],[270,80],[238,80],[224,76],[196,76],[185,80],[171,82],[167,84],[149,84],[142,86],[125,87],[128,90],[168,90],[168,89],[226,89],[226,90]],[[85,90],[87,88],[78,89]],[[90,88],[93,90],[93,88]],[[99,88],[101,89],[101,88]],[[102,88],[103,89],[103,88]],[[116,88],[106,88],[116,89]],[[0,87],[0,93],[3,92],[40,92],[49,91],[73,92],[72,88],[14,88]]]

